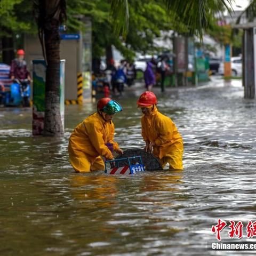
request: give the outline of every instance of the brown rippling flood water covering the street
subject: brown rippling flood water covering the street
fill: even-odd
[[[143,89],[134,90],[117,98],[123,149],[143,147],[135,104]],[[68,138],[95,104],[66,107],[61,139],[31,137],[31,109],[0,109],[0,255],[242,254],[206,244],[217,241],[218,218],[243,221],[242,241],[256,220],[256,101],[243,98],[241,80],[220,78],[155,92],[182,134],[184,171],[76,174]]]

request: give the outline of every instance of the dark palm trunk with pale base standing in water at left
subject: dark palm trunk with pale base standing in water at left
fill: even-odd
[[[64,133],[60,116],[60,35],[66,21],[66,0],[35,1],[38,35],[46,61],[44,135]]]

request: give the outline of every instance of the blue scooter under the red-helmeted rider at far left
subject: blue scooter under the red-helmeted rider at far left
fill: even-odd
[[[13,80],[10,86],[10,91],[5,94],[5,106],[19,106],[29,107],[30,102],[30,86],[28,79]]]

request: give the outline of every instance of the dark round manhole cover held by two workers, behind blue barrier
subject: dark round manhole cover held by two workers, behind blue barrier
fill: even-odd
[[[142,162],[146,167],[146,171],[156,171],[156,170],[163,170],[161,164],[158,162],[158,159],[150,154],[147,153],[145,150],[140,148],[133,148],[133,149],[127,149],[124,151],[123,155],[118,155],[116,159],[119,158],[126,158],[126,157],[132,157],[132,156],[141,156]],[[132,159],[131,164],[139,163],[138,159]],[[120,161],[119,166],[128,165],[127,161]]]

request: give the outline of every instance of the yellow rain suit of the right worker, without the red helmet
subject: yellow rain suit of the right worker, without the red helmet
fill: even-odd
[[[141,117],[143,140],[155,142],[153,154],[160,159],[163,167],[169,163],[170,169],[183,170],[183,140],[171,118],[159,113],[157,107],[149,116]]]

